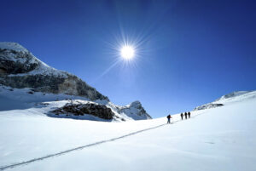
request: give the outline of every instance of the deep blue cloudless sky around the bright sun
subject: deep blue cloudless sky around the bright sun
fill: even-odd
[[[162,117],[256,88],[254,2],[3,0],[0,41],[20,43],[117,105],[140,100]],[[122,35],[140,42],[137,58],[102,76]]]

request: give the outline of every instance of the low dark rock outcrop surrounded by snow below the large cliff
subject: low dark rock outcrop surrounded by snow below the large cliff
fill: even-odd
[[[106,105],[98,105],[94,103],[73,104],[67,103],[63,107],[52,111],[55,115],[72,114],[74,116],[84,116],[84,114],[93,115],[102,119],[113,119],[114,113]]]

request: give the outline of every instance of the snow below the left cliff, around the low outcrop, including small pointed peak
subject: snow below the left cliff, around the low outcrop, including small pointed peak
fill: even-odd
[[[94,103],[98,105],[106,105],[113,113],[113,120],[104,120],[92,115],[73,116],[72,113],[67,117],[67,113],[56,116],[50,111],[61,108],[67,103]],[[42,92],[34,92],[32,88],[10,88],[0,85],[0,111],[9,110],[26,110],[36,107],[36,112],[41,112],[49,117],[73,118],[94,121],[108,122],[124,122],[129,120],[151,119],[147,112],[143,109],[139,101],[132,102],[131,105],[119,106],[114,105],[108,100],[91,101],[85,97],[68,95],[68,94],[47,94]]]

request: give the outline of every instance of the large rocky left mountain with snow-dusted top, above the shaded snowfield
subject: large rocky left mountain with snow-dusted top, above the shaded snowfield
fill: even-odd
[[[18,43],[7,43],[8,48],[1,48],[1,45],[6,47],[6,43],[0,44],[0,84],[12,88],[34,88],[45,93],[83,96],[89,100],[108,100],[107,96],[79,77],[45,65]]]

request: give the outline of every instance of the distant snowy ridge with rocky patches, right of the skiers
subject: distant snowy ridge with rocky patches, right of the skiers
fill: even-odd
[[[256,91],[236,91],[230,94],[225,94],[220,98],[218,98],[218,100],[214,100],[211,103],[197,106],[195,107],[194,111],[215,108],[222,105],[227,105],[231,102],[238,102],[241,100],[247,100],[255,97],[256,97]]]

